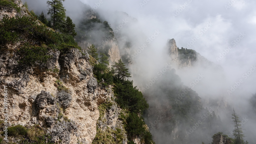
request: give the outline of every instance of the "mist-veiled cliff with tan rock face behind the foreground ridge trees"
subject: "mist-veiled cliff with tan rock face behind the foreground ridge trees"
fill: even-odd
[[[118,60],[121,58],[118,41],[114,37],[114,32],[112,29],[108,29],[102,23],[99,23],[99,21],[91,22],[95,23],[93,28],[88,28],[87,26],[84,26],[84,23],[88,23],[88,21],[92,19],[98,19],[99,16],[97,16],[97,13],[94,12],[92,9],[87,9],[84,13],[83,20],[80,21],[80,29],[83,29],[83,32],[85,32],[85,36],[77,36],[79,40],[78,45],[82,49],[87,49],[90,45],[94,44],[96,48],[98,48],[98,52],[102,52],[109,57],[110,66],[113,65],[115,62],[118,62]],[[98,19],[100,20],[100,19]],[[90,26],[91,27],[91,26]],[[97,33],[95,35],[95,33]]]

